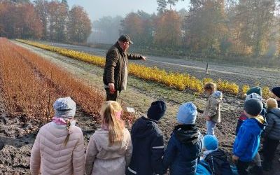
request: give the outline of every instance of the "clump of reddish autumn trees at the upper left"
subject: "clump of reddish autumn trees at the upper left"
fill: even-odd
[[[69,9],[66,0],[0,0],[2,37],[83,43],[91,29],[83,7]]]

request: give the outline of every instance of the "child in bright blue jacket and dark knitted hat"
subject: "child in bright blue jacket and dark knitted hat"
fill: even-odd
[[[239,129],[232,156],[240,175],[248,174],[246,169],[258,152],[260,134],[267,125],[265,119],[260,116],[262,107],[262,102],[258,99],[248,99],[244,103],[244,113],[248,120],[245,120]]]

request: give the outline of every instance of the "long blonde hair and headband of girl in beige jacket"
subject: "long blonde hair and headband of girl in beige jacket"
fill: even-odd
[[[109,146],[123,140],[125,125],[123,120],[116,118],[116,113],[122,110],[122,106],[118,102],[107,101],[102,105],[100,114],[102,116],[102,125],[106,125],[109,130]]]

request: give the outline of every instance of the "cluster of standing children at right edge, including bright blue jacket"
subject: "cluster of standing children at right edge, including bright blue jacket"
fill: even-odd
[[[244,112],[237,122],[232,157],[237,162],[239,174],[248,174],[246,169],[252,162],[251,174],[263,174],[263,170],[272,169],[272,160],[280,140],[280,87],[272,88],[271,94],[273,98],[265,101],[258,86],[246,93]],[[258,153],[261,137],[263,161]]]

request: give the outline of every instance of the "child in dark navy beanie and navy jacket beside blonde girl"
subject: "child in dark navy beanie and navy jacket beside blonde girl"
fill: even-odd
[[[165,146],[158,120],[164,116],[165,111],[165,102],[153,102],[148,109],[148,118],[143,116],[132,126],[132,160],[126,175],[163,174],[161,165]]]

